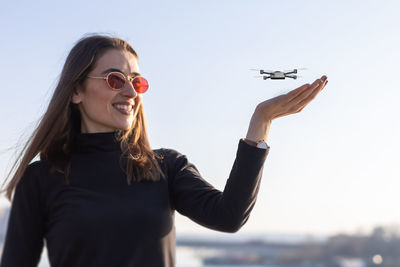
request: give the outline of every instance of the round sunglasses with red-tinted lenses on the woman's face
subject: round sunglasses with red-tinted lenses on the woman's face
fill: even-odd
[[[106,80],[108,86],[112,90],[116,90],[116,91],[119,91],[122,88],[124,88],[125,83],[126,83],[127,80],[129,80],[132,83],[133,88],[135,88],[135,91],[138,94],[143,94],[149,88],[149,83],[142,76],[126,77],[121,72],[115,72],[115,71],[109,72],[107,74],[107,76],[105,76],[105,77],[93,77],[93,76],[87,76],[87,77],[88,78],[93,78],[93,79]]]

